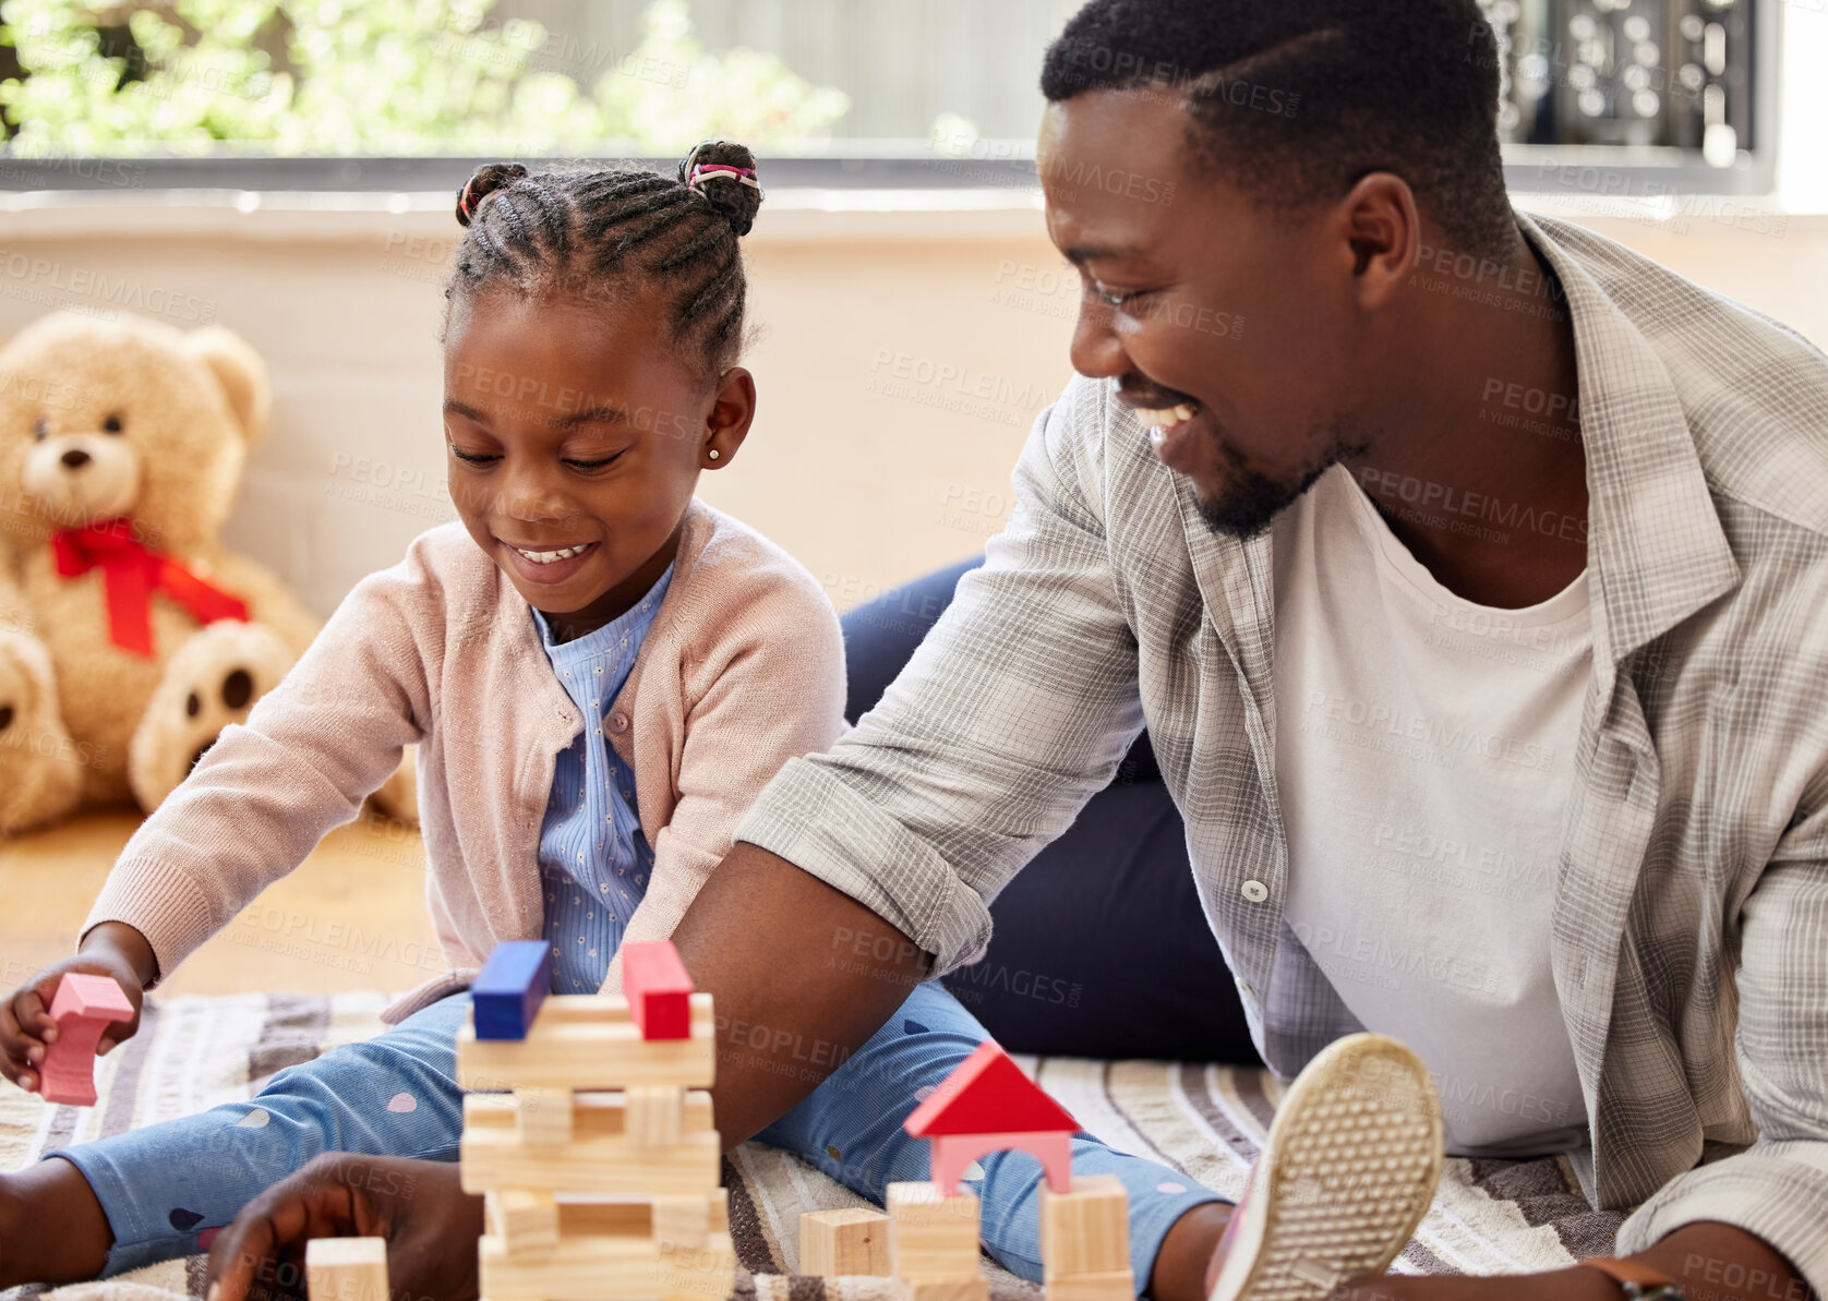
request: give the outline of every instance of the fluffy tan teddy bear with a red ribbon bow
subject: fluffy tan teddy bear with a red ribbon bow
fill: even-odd
[[[269,413],[219,325],[55,312],[0,345],[0,833],[150,813],[316,636],[218,541]],[[413,817],[406,766],[382,804]]]

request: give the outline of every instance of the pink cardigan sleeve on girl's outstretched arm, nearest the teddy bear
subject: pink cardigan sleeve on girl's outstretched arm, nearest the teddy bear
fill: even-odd
[[[128,841],[84,934],[124,921],[168,976],[351,820],[426,736],[424,616],[437,599],[422,545],[362,579],[249,720],[223,729]]]

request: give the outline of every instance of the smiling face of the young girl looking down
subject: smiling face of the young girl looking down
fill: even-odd
[[[563,640],[603,627],[654,585],[678,550],[698,471],[728,466],[755,418],[749,373],[735,367],[707,386],[654,329],[662,311],[643,292],[614,307],[512,294],[452,305],[452,501]]]

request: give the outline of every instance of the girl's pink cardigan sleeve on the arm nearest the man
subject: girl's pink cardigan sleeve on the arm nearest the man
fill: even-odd
[[[845,731],[845,638],[824,592],[797,565],[749,592],[711,658],[684,671],[702,691],[687,685],[673,815],[623,945],[669,937],[781,766]],[[622,992],[620,956],[603,992]]]

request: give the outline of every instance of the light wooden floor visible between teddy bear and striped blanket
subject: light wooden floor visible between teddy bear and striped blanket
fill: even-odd
[[[0,841],[0,989],[71,952],[137,813],[86,813]],[[364,815],[331,831],[161,994],[406,990],[444,968],[424,903],[419,831]]]

